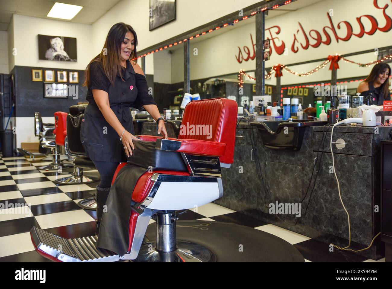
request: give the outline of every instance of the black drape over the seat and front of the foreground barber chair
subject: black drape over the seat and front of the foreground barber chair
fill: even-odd
[[[135,149],[127,165],[118,172],[106,201],[97,247],[124,255],[129,246],[129,218],[131,217],[132,192],[139,177],[147,168],[188,172],[181,154],[157,150],[154,141],[134,141]],[[149,172],[149,173],[152,173]]]

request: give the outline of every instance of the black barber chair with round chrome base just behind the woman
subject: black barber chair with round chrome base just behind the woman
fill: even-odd
[[[65,113],[63,118],[66,124],[66,135],[65,139],[62,139],[62,143],[65,146],[65,152],[72,159],[73,173],[70,177],[63,177],[54,181],[60,185],[75,185],[75,184],[87,184],[93,183],[100,180],[100,177],[85,176],[83,175],[83,168],[95,170],[93,161],[86,157],[82,142],[80,141],[80,124],[83,119],[83,113],[85,106],[74,105],[69,108],[69,114]],[[57,139],[57,134],[56,134]],[[91,200],[90,200],[91,201]],[[94,204],[88,202],[88,209],[93,209]],[[93,205],[93,207],[91,207]],[[83,207],[84,209],[87,209]]]

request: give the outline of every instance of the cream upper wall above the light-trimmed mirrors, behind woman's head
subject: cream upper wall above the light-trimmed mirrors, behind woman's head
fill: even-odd
[[[113,24],[131,25],[138,36],[138,50],[184,33],[260,0],[178,0],[176,20],[149,31],[149,1],[123,0],[93,23],[93,49],[98,54]]]

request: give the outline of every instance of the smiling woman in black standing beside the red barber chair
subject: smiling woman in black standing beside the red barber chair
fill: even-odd
[[[151,95],[147,81],[136,62],[138,38],[133,28],[114,24],[107,34],[102,52],[88,64],[84,86],[88,87],[80,138],[89,157],[101,175],[96,187],[97,229],[111,181],[119,162],[126,161],[134,149],[130,107],[145,108],[158,124],[158,134],[167,138],[165,121]],[[125,152],[125,154],[124,154]]]

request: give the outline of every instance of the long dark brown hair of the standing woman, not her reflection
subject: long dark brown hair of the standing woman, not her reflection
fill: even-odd
[[[131,32],[134,37],[134,49],[129,59],[134,59],[134,61],[137,62],[138,53],[136,51],[136,46],[138,45],[138,37],[136,36],[136,32],[133,30],[131,25],[122,22],[116,23],[111,27],[109,33],[107,33],[105,45],[103,46],[101,53],[94,57],[93,60],[91,60],[87,65],[83,86],[89,86],[90,64],[93,62],[100,62],[102,64],[103,71],[112,85],[114,84],[116,75],[122,75],[120,50],[121,44],[125,38],[125,34],[128,32]]]

